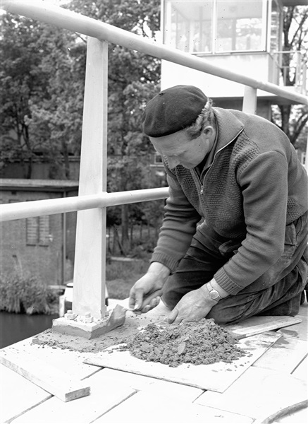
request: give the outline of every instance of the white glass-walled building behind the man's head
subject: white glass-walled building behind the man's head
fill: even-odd
[[[283,6],[289,0],[161,0],[164,44],[261,81],[281,83]],[[295,3],[301,3],[295,1]],[[293,1],[294,4],[294,1]],[[295,4],[294,4],[295,5]],[[244,86],[162,61],[161,87],[194,84],[223,106]],[[259,93],[260,92],[260,93]],[[263,100],[273,95],[258,90]],[[217,104],[217,102],[216,102]]]

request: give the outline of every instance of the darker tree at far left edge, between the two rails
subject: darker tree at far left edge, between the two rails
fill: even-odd
[[[30,98],[47,95],[48,76],[39,71],[41,52],[37,49],[41,26],[32,20],[1,16],[1,166],[20,158],[31,163],[35,146],[30,141]]]

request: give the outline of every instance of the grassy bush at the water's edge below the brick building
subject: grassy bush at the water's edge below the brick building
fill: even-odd
[[[51,314],[55,295],[35,276],[1,276],[0,310],[26,314]]]

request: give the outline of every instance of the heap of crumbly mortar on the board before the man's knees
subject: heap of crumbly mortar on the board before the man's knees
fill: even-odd
[[[215,324],[214,319],[168,326],[149,324],[124,343],[121,351],[128,350],[136,358],[171,367],[182,363],[231,363],[246,355],[236,346],[237,340],[228,330]]]

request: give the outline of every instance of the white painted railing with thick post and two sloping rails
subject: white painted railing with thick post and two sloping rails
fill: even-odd
[[[47,2],[2,0],[1,8],[88,36],[79,196],[2,205],[1,214],[2,220],[13,220],[78,211],[73,312],[80,315],[91,312],[93,317],[101,318],[105,312],[106,207],[164,199],[168,195],[166,188],[106,193],[107,42],[243,84],[243,110],[247,113],[256,112],[257,89],[304,105],[308,105],[308,100],[299,93],[214,66],[178,49]]]

